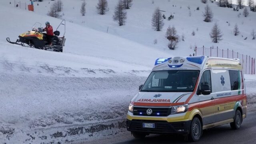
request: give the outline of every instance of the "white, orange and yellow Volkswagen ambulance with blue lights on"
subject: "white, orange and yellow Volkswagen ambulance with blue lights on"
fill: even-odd
[[[135,138],[176,133],[198,141],[204,129],[239,129],[246,108],[239,59],[158,58],[129,104],[126,126]]]

